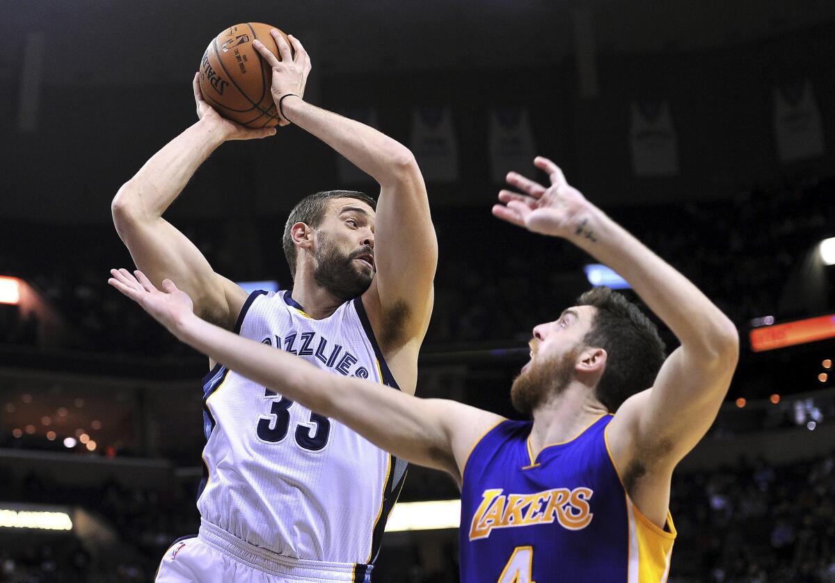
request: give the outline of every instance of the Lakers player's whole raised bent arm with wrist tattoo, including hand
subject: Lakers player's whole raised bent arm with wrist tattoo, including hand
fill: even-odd
[[[739,352],[736,327],[691,281],[571,187],[557,165],[544,158],[535,164],[549,174],[549,187],[511,173],[509,184],[524,194],[503,190],[504,205],[495,205],[493,214],[562,237],[610,266],[681,342],[653,387],[627,399],[609,430],[622,474],[640,469],[658,478],[643,481],[648,487],[640,492],[630,491],[636,504],[648,516],[653,504],[665,513],[672,469],[710,428],[731,383]]]

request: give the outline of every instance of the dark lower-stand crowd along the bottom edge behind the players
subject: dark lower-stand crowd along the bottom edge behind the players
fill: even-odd
[[[0,499],[81,504],[119,533],[119,550],[96,553],[72,536],[17,554],[0,550],[0,581],[150,580],[170,544],[198,527],[190,481],[158,491],[114,482],[65,488],[34,474],[14,484],[4,477]],[[835,583],[835,454],[783,467],[741,459],[715,472],[680,474],[671,513],[678,530],[671,583]],[[429,571],[417,552],[384,548],[378,580],[457,581],[454,544],[444,553],[447,560]]]

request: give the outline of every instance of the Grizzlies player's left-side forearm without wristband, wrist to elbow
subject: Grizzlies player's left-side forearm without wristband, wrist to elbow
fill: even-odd
[[[122,185],[112,204],[114,219],[161,216],[224,140],[219,126],[209,119],[190,126]]]

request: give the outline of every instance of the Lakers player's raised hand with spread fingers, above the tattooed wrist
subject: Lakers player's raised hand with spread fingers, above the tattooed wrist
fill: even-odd
[[[581,237],[595,241],[590,222],[597,207],[579,190],[565,180],[563,171],[554,162],[537,156],[534,165],[548,173],[551,185],[546,188],[515,172],[508,174],[508,184],[524,194],[501,190],[498,200],[504,205],[493,205],[493,215],[534,233],[564,237]]]

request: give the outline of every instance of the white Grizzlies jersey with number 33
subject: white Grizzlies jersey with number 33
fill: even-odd
[[[381,391],[399,390],[361,298],[314,320],[289,291],[255,291],[235,332],[333,374],[388,385]],[[354,563],[363,575],[377,557],[407,464],[220,365],[206,376],[204,394],[202,519],[279,555]]]

